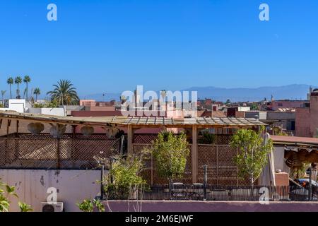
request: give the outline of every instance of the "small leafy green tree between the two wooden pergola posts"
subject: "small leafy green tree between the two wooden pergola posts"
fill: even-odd
[[[173,179],[182,177],[189,155],[189,143],[184,133],[174,134],[162,131],[153,142],[153,157],[159,176],[169,181],[169,190]]]

